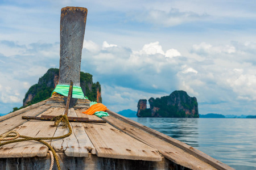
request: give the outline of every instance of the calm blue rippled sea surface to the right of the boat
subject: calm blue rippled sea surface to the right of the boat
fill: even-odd
[[[130,119],[178,139],[235,169],[256,169],[256,119]]]

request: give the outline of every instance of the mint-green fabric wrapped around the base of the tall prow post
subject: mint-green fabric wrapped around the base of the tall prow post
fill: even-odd
[[[53,90],[53,92],[56,92],[63,96],[68,96],[68,91],[69,91],[69,85],[66,85],[66,84],[57,84],[57,86],[55,87],[55,90]],[[79,86],[73,86],[72,97],[76,99],[88,99],[88,97],[84,96],[84,93],[82,92],[82,88]]]

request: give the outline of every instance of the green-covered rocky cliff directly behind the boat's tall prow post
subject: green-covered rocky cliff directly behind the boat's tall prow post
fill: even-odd
[[[23,107],[46,100],[51,96],[52,91],[58,84],[59,69],[49,69],[38,80],[38,84],[34,84],[27,91],[23,99]],[[84,95],[91,101],[102,102],[101,85],[99,82],[93,83],[92,75],[89,73],[80,73],[80,86]]]

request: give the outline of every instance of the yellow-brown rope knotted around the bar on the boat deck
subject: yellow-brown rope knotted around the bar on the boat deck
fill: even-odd
[[[55,120],[55,126],[59,125],[60,122],[63,122],[63,128],[67,127],[68,126],[68,129],[69,129],[69,133],[68,134],[65,134],[65,135],[62,135],[60,137],[51,137],[51,138],[44,138],[44,137],[40,137],[40,138],[32,138],[32,137],[27,137],[27,136],[24,136],[24,135],[19,135],[19,133],[17,131],[9,131],[8,133],[6,134],[3,134],[0,136],[0,146],[3,146],[3,145],[7,145],[9,143],[15,143],[15,142],[23,142],[23,141],[31,141],[31,140],[34,140],[34,141],[38,141],[38,142],[41,142],[43,143],[44,145],[48,146],[49,150],[52,151],[52,154],[56,160],[56,164],[57,164],[57,168],[60,170],[60,164],[59,164],[59,160],[57,158],[57,154],[55,152],[55,150],[53,149],[53,147],[51,145],[49,145],[49,143],[47,142],[44,142],[42,140],[53,140],[53,139],[62,139],[62,138],[65,138],[65,137],[68,137],[69,135],[72,134],[72,128],[69,124],[69,121],[68,121],[68,116],[67,115],[60,115],[60,116],[57,116],[55,118],[53,118],[52,120]],[[14,134],[13,134],[14,133]],[[7,139],[6,139],[7,138]],[[17,139],[17,138],[23,138],[23,139]],[[16,139],[16,140],[15,140]],[[1,143],[1,141],[7,141],[7,142],[3,142]]]

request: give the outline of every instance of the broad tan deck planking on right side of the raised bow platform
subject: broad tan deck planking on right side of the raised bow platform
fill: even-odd
[[[94,115],[86,115],[77,109],[79,117],[88,117],[89,119],[101,119]],[[96,148],[97,156],[104,158],[131,159],[161,161],[162,157],[154,148],[122,133],[110,124],[82,124],[90,141]]]

